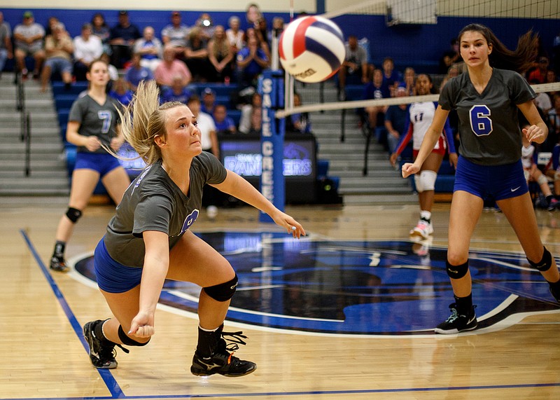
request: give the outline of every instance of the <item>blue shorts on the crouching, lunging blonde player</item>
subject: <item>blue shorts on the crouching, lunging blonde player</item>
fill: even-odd
[[[127,267],[109,256],[105,237],[99,240],[93,254],[93,266],[99,289],[109,293],[124,293],[140,284],[144,268]]]

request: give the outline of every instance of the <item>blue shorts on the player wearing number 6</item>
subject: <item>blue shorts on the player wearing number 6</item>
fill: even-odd
[[[453,191],[479,198],[504,200],[528,192],[521,160],[506,165],[478,165],[459,156]]]

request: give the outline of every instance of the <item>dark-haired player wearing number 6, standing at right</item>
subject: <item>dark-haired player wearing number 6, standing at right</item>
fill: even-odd
[[[435,333],[447,334],[477,327],[468,253],[486,197],[496,200],[529,264],[545,277],[552,296],[560,302],[560,275],[554,257],[540,240],[520,160],[521,135],[535,143],[544,142],[548,135],[547,125],[533,104],[535,92],[517,73],[531,66],[538,51],[538,37],[528,32],[511,51],[487,27],[470,24],[459,32],[458,40],[468,71],[445,84],[416,160],[402,165],[402,177],[421,171],[449,111],[456,109],[461,157],[451,200],[446,263],[455,301],[449,305],[451,315],[435,328]],[[522,131],[518,110],[529,122]]]

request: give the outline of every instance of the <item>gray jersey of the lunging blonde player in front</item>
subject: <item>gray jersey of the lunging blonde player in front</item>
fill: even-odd
[[[142,233],[157,230],[169,236],[169,249],[196,221],[204,184],[220,184],[227,171],[210,153],[202,152],[190,165],[188,196],[169,178],[159,161],[132,181],[116,214],[109,221],[105,245],[113,260],[130,267],[144,265]]]

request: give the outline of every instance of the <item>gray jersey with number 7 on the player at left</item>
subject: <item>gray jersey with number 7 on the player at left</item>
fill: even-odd
[[[116,137],[116,126],[120,124],[116,99],[107,96],[105,104],[99,104],[90,95],[80,97],[72,104],[68,116],[69,121],[80,123],[78,133],[83,136],[97,136],[106,146],[111,146],[111,139]],[[91,153],[83,146],[78,147],[81,153]],[[106,153],[100,147],[93,153]]]

